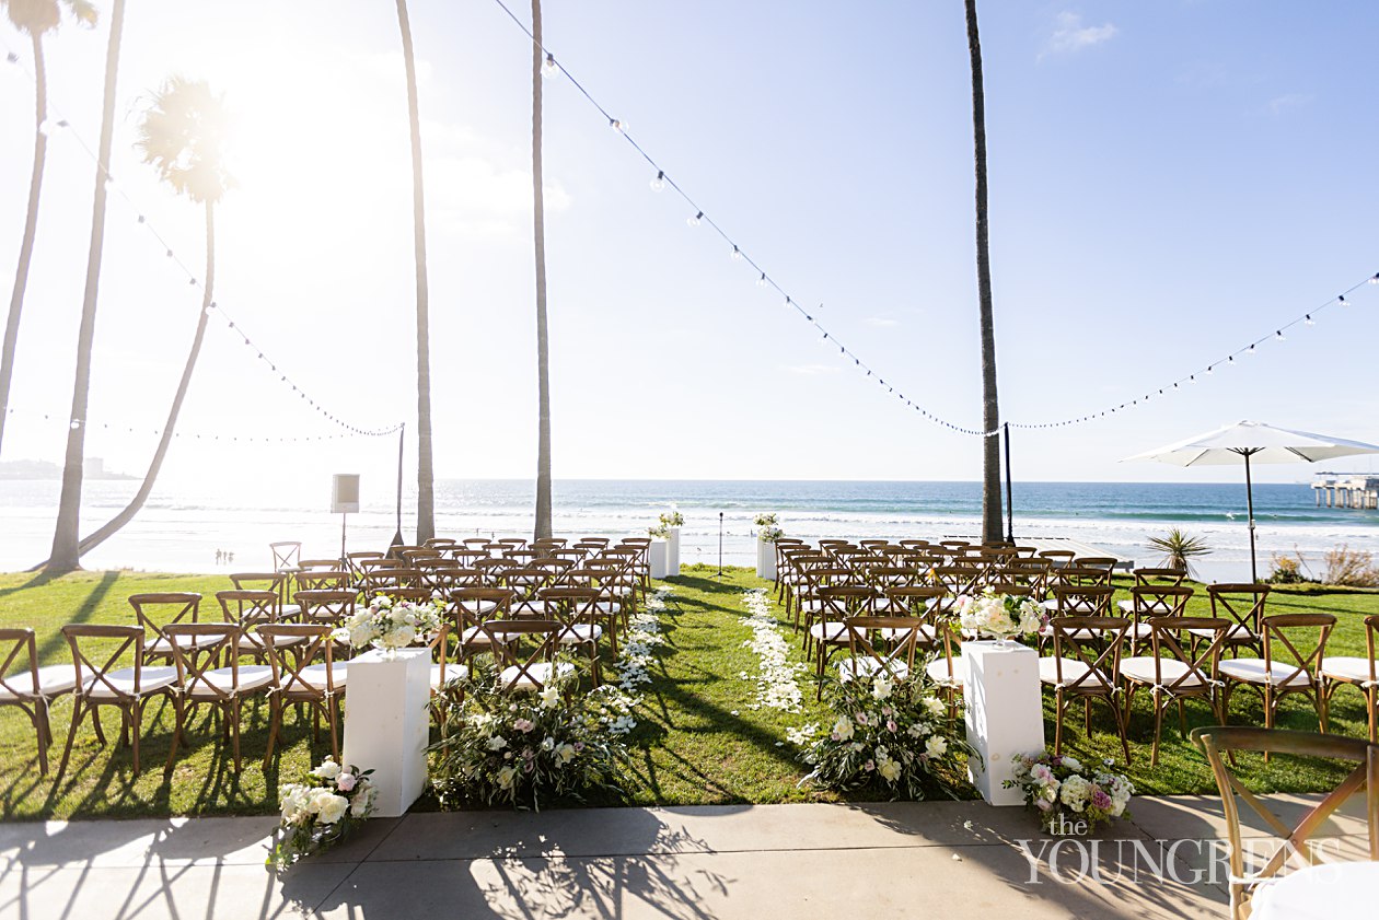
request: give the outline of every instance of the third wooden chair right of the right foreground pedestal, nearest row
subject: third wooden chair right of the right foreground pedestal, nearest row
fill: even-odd
[[[1278,716],[1278,701],[1302,694],[1311,698],[1317,723],[1327,731],[1327,695],[1321,684],[1321,662],[1327,655],[1327,639],[1336,618],[1331,614],[1276,614],[1260,619],[1263,658],[1230,658],[1220,662],[1226,680],[1222,691],[1222,710],[1230,712],[1230,695],[1237,687],[1251,687],[1265,705],[1265,728],[1273,728]],[[1230,633],[1222,639],[1230,644]]]

